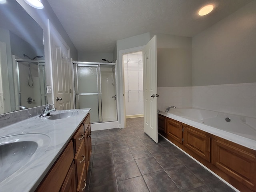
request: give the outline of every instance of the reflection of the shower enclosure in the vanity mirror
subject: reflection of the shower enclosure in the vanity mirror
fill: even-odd
[[[12,58],[16,110],[47,104],[44,60]]]

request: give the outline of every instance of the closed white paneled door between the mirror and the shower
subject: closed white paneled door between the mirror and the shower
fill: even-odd
[[[70,50],[62,40],[54,36],[52,44],[52,65],[54,80],[54,107],[58,110],[72,109],[72,83],[70,78]]]

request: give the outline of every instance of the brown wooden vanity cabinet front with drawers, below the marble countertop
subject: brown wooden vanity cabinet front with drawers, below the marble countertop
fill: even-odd
[[[82,192],[91,156],[90,113],[42,180],[36,192]]]

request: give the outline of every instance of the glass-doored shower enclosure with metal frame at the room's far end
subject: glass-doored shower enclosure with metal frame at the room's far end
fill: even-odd
[[[117,121],[116,64],[73,64],[76,108],[91,108],[91,122]]]

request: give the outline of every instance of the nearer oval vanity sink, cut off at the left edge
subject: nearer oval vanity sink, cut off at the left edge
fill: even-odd
[[[45,134],[18,134],[0,138],[0,183],[22,172],[50,144]]]

